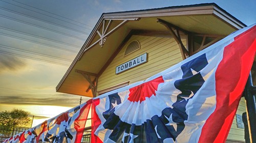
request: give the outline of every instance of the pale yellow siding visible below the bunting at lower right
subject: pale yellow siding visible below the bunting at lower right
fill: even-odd
[[[243,112],[246,111],[246,106],[245,106],[245,99],[242,97],[242,99],[239,102],[238,110],[236,114],[242,115]],[[241,142],[245,142],[244,139],[244,129],[240,129],[237,127],[237,117],[234,116],[231,129],[229,131],[229,134],[227,136],[227,140],[238,140]]]

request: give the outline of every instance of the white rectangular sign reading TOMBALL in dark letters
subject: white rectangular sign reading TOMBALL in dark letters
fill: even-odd
[[[133,67],[139,66],[139,65],[141,65],[143,63],[146,63],[146,62],[147,62],[147,53],[144,53],[144,54],[138,56],[137,58],[135,58],[131,61],[123,63],[120,66],[117,66],[116,67],[116,74],[121,73],[121,72],[126,71],[126,70],[129,70]]]

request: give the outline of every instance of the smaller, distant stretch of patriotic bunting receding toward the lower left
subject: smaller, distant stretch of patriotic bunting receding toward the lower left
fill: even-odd
[[[80,142],[91,101],[76,106],[3,142]]]

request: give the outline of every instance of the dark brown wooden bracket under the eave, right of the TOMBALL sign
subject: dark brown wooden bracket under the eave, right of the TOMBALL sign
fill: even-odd
[[[173,25],[167,21],[159,19],[159,18],[157,18],[157,22],[159,22],[160,24],[163,24],[168,29],[169,33],[174,37],[174,39],[176,40],[176,42],[178,43],[178,45],[180,47],[183,60],[186,59],[186,55],[189,55],[189,52],[187,51],[187,49],[185,48],[185,46],[183,45],[183,43],[181,41],[179,31],[182,31],[184,34],[188,34],[189,32],[185,31],[182,28],[180,28],[176,25]],[[176,32],[174,30],[176,30]]]

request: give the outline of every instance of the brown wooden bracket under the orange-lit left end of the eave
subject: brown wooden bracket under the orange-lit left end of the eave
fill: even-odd
[[[90,88],[86,90],[88,92],[90,89],[92,90],[93,97],[97,96],[97,85],[98,85],[98,74],[86,72],[82,70],[75,70],[75,72],[82,74],[84,78],[89,82]],[[91,76],[95,76],[95,79],[92,81]]]

